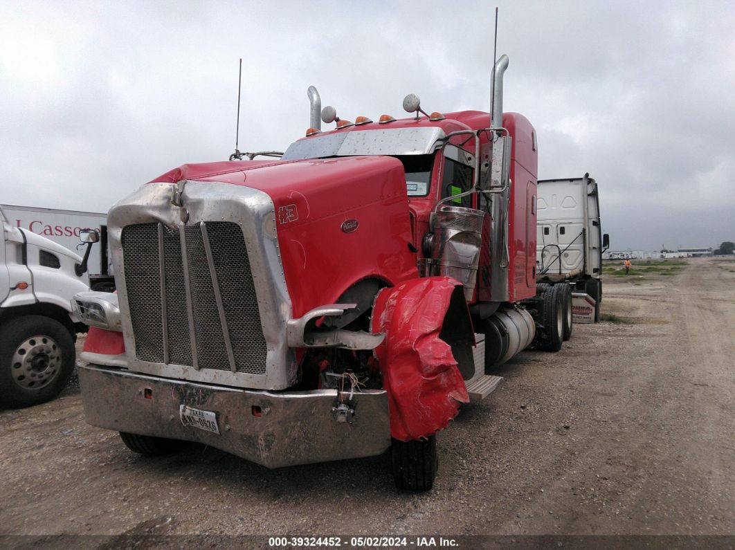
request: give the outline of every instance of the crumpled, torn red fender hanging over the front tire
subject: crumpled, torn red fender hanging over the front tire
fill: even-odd
[[[446,427],[470,401],[449,344],[439,335],[452,293],[448,277],[412,279],[383,289],[373,308],[373,333],[386,333],[376,348],[388,392],[390,433],[412,441]]]

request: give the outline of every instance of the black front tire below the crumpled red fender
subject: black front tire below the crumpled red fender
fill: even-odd
[[[429,491],[437,477],[437,436],[429,435],[423,441],[392,441],[390,455],[395,486],[409,491]]]

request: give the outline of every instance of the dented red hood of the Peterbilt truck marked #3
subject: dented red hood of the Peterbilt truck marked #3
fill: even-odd
[[[184,164],[153,182],[222,182],[267,193],[298,317],[356,281],[415,277],[406,178],[390,156]],[[151,183],[153,183],[151,182]],[[343,224],[354,225],[346,230]]]

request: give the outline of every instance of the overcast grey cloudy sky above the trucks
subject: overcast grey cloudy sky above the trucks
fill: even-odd
[[[354,120],[489,109],[494,7],[506,111],[539,178],[600,184],[614,250],[735,241],[731,1],[0,0],[0,203],[107,211],[234,149],[283,150],[306,88]]]

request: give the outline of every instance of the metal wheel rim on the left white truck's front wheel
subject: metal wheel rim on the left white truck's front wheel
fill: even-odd
[[[31,336],[15,349],[10,370],[12,380],[21,388],[48,386],[61,370],[61,348],[49,336]]]

